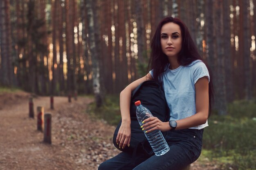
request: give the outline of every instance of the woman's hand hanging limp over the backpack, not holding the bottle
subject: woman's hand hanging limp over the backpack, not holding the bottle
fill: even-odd
[[[125,148],[126,146],[130,146],[130,139],[131,139],[131,127],[128,122],[121,123],[121,126],[119,128],[118,134],[117,134],[117,144],[119,145],[119,148]]]

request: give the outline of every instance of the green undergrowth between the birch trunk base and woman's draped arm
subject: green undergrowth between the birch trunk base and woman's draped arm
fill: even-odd
[[[119,96],[105,96],[105,102],[100,108],[96,107],[95,102],[90,104],[89,113],[92,118],[104,119],[110,125],[117,125],[121,120]]]

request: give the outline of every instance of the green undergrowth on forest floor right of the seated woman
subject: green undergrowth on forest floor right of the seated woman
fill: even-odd
[[[203,148],[222,168],[256,169],[256,104],[236,101],[228,106],[228,116],[213,115],[204,130]],[[254,116],[254,117],[253,117]],[[227,161],[228,160],[228,161]]]

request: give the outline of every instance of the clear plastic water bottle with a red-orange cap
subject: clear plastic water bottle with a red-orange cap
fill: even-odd
[[[153,115],[146,107],[141,105],[140,101],[135,102],[135,105],[137,119],[140,126],[142,126],[143,124],[141,122],[149,117],[153,117]],[[145,133],[145,135],[156,156],[164,155],[170,150],[160,130],[153,130],[152,132]]]

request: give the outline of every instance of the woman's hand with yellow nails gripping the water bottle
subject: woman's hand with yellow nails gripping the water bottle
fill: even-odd
[[[145,119],[144,122],[142,123],[143,125],[141,126],[141,128],[146,133],[151,132],[153,130],[161,130],[163,132],[171,130],[169,122],[162,122],[157,117],[149,117],[148,119]]]

